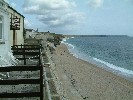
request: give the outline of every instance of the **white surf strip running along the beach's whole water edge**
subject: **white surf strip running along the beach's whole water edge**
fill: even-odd
[[[133,70],[128,70],[128,69],[116,66],[114,64],[108,63],[106,61],[103,61],[101,59],[94,58],[93,56],[90,56],[86,52],[82,51],[82,49],[80,47],[77,47],[77,46],[74,46],[74,45],[68,43],[67,39],[68,38],[64,38],[63,43],[66,44],[69,52],[71,54],[73,54],[73,56],[75,56],[76,58],[82,59],[82,60],[92,63],[94,65],[97,65],[98,67],[103,68],[103,69],[105,69],[109,72],[112,72],[118,76],[121,76],[125,79],[128,79],[129,81],[133,81]]]

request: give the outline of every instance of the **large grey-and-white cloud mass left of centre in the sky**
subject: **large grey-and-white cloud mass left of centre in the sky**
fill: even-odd
[[[47,27],[67,28],[77,26],[84,14],[75,12],[76,3],[69,0],[25,0],[24,12],[34,14]]]

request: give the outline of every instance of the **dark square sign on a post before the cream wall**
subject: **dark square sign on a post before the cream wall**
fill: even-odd
[[[11,16],[10,30],[20,30],[20,18]]]

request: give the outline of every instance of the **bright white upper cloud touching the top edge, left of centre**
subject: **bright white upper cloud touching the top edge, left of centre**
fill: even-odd
[[[49,11],[69,10],[75,7],[74,2],[67,0],[25,0],[24,12],[29,14],[45,14]]]

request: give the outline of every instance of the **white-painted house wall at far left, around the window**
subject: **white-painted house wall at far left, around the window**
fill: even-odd
[[[10,49],[10,43],[9,43],[9,13],[7,12],[7,6],[8,4],[5,3],[3,0],[0,1],[0,3],[3,3],[4,6],[0,6],[0,16],[2,16],[3,24],[2,24],[2,39],[0,39],[0,65],[3,65],[6,63],[2,60],[4,57],[6,60],[9,60],[8,53],[11,51]]]

